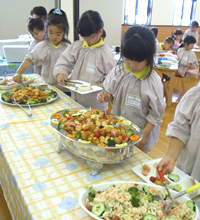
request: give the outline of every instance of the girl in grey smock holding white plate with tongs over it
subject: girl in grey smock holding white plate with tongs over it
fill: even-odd
[[[116,62],[111,49],[102,40],[104,23],[96,11],[86,11],[82,14],[77,30],[84,41],[75,41],[58,59],[54,76],[57,82],[65,85],[68,76],[70,80],[83,80],[92,85],[101,86],[106,75]],[[97,101],[98,92],[79,94],[71,92],[72,98],[84,107],[106,110],[107,104]]]

